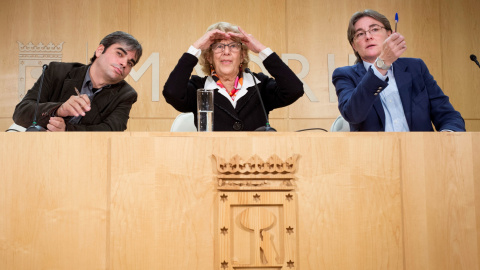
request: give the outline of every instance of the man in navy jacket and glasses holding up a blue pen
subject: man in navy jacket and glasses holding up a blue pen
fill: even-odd
[[[465,131],[456,111],[421,59],[399,58],[402,35],[373,10],[350,19],[348,40],[357,61],[332,76],[338,108],[351,131]]]

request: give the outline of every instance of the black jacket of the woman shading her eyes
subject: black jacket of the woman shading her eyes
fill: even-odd
[[[180,112],[193,112],[197,125],[197,89],[204,88],[208,77],[191,76],[198,59],[184,53],[163,88],[166,101]],[[263,64],[275,77],[255,74],[258,88],[267,113],[275,108],[292,104],[303,95],[303,83],[276,53],[269,55]],[[217,89],[218,90],[218,89]],[[214,92],[213,128],[215,131],[252,131],[265,126],[265,114],[254,87],[247,88],[246,95],[232,103],[218,91]]]

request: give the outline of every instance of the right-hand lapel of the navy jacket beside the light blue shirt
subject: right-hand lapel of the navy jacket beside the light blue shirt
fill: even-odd
[[[407,119],[408,127],[412,129],[412,74],[407,72],[408,66],[401,59],[393,63],[393,75],[397,82],[398,93],[402,100],[403,112]]]

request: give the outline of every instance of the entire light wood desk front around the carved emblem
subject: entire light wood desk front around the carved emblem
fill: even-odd
[[[220,269],[212,155],[236,154],[300,155],[296,269],[480,269],[480,133],[0,133],[0,147],[0,269]]]

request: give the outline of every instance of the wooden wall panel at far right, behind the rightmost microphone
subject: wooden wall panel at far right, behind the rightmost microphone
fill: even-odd
[[[440,29],[444,91],[465,119],[480,118],[480,69],[470,54],[480,57],[480,2],[441,1]],[[471,129],[479,130],[479,129]]]

